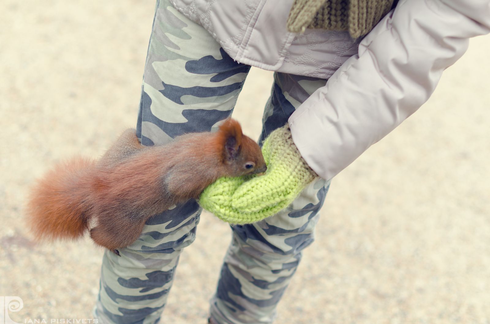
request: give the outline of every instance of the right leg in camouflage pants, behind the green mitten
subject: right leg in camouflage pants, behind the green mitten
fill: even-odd
[[[326,80],[274,74],[261,140],[286,124],[301,102]],[[277,303],[296,271],[301,250],[313,242],[318,211],[329,182],[309,185],[294,203],[264,221],[233,226],[233,240],[211,302],[214,323],[271,323]]]

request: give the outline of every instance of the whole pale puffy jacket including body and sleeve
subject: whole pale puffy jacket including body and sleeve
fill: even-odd
[[[289,33],[293,0],[172,0],[236,61],[329,78],[289,118],[294,143],[331,179],[412,115],[470,37],[490,32],[490,0],[400,0],[359,43],[347,32]]]

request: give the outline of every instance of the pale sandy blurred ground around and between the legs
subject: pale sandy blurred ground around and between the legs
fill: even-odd
[[[17,322],[91,317],[102,251],[34,245],[22,208],[53,162],[95,157],[135,124],[153,7],[1,2],[0,296],[23,299]],[[490,323],[489,41],[473,40],[429,102],[334,179],[276,323]],[[270,84],[252,70],[237,106],[255,138]],[[205,323],[229,241],[204,213],[164,323]]]

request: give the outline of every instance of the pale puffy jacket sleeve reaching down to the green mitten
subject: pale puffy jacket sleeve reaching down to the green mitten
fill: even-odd
[[[333,178],[429,99],[470,37],[489,32],[489,0],[400,0],[289,118],[299,152]]]

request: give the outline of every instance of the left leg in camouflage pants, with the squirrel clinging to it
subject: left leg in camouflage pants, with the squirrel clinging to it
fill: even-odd
[[[137,123],[143,145],[209,131],[228,117],[249,67],[234,62],[201,26],[157,2]],[[156,323],[182,249],[196,235],[196,201],[151,217],[121,256],[106,251],[95,310],[99,323]]]

